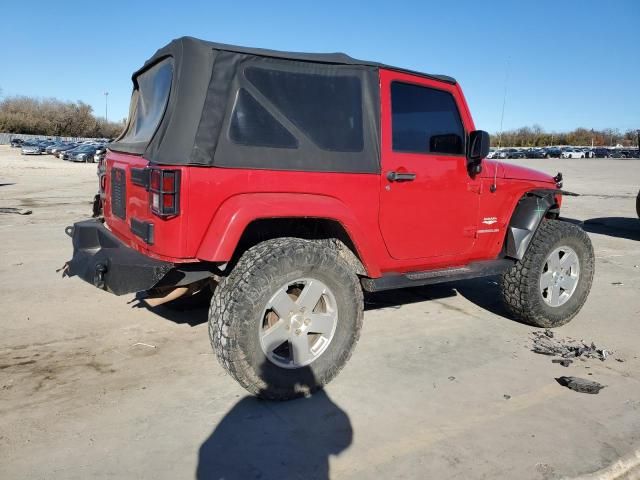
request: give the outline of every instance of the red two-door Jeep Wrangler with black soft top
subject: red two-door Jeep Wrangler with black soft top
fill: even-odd
[[[212,288],[220,363],[272,399],[344,366],[363,289],[502,274],[514,317],[562,325],[591,287],[589,238],[558,220],[561,175],[488,150],[453,78],[181,38],[133,75],[104,216],[67,228],[68,273],[152,305]]]

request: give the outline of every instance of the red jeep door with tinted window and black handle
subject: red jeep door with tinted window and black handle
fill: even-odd
[[[473,122],[457,85],[380,71],[379,223],[396,259],[460,256],[475,241],[479,180],[465,156]],[[462,115],[461,115],[462,112]]]

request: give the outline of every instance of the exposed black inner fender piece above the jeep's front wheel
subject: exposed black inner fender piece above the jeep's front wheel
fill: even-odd
[[[505,256],[521,260],[540,222],[549,215],[560,213],[556,195],[577,196],[555,188],[531,190],[520,198],[511,215],[505,240]]]

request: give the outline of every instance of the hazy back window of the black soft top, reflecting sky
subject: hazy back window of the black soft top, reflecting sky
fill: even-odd
[[[131,112],[123,142],[148,143],[164,115],[171,80],[173,60],[167,58],[136,77],[138,88],[131,97]]]

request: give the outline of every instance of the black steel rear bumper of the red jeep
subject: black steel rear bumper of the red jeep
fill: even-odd
[[[149,290],[174,267],[127,247],[98,220],[75,223],[66,232],[73,239],[67,274],[115,295]]]

